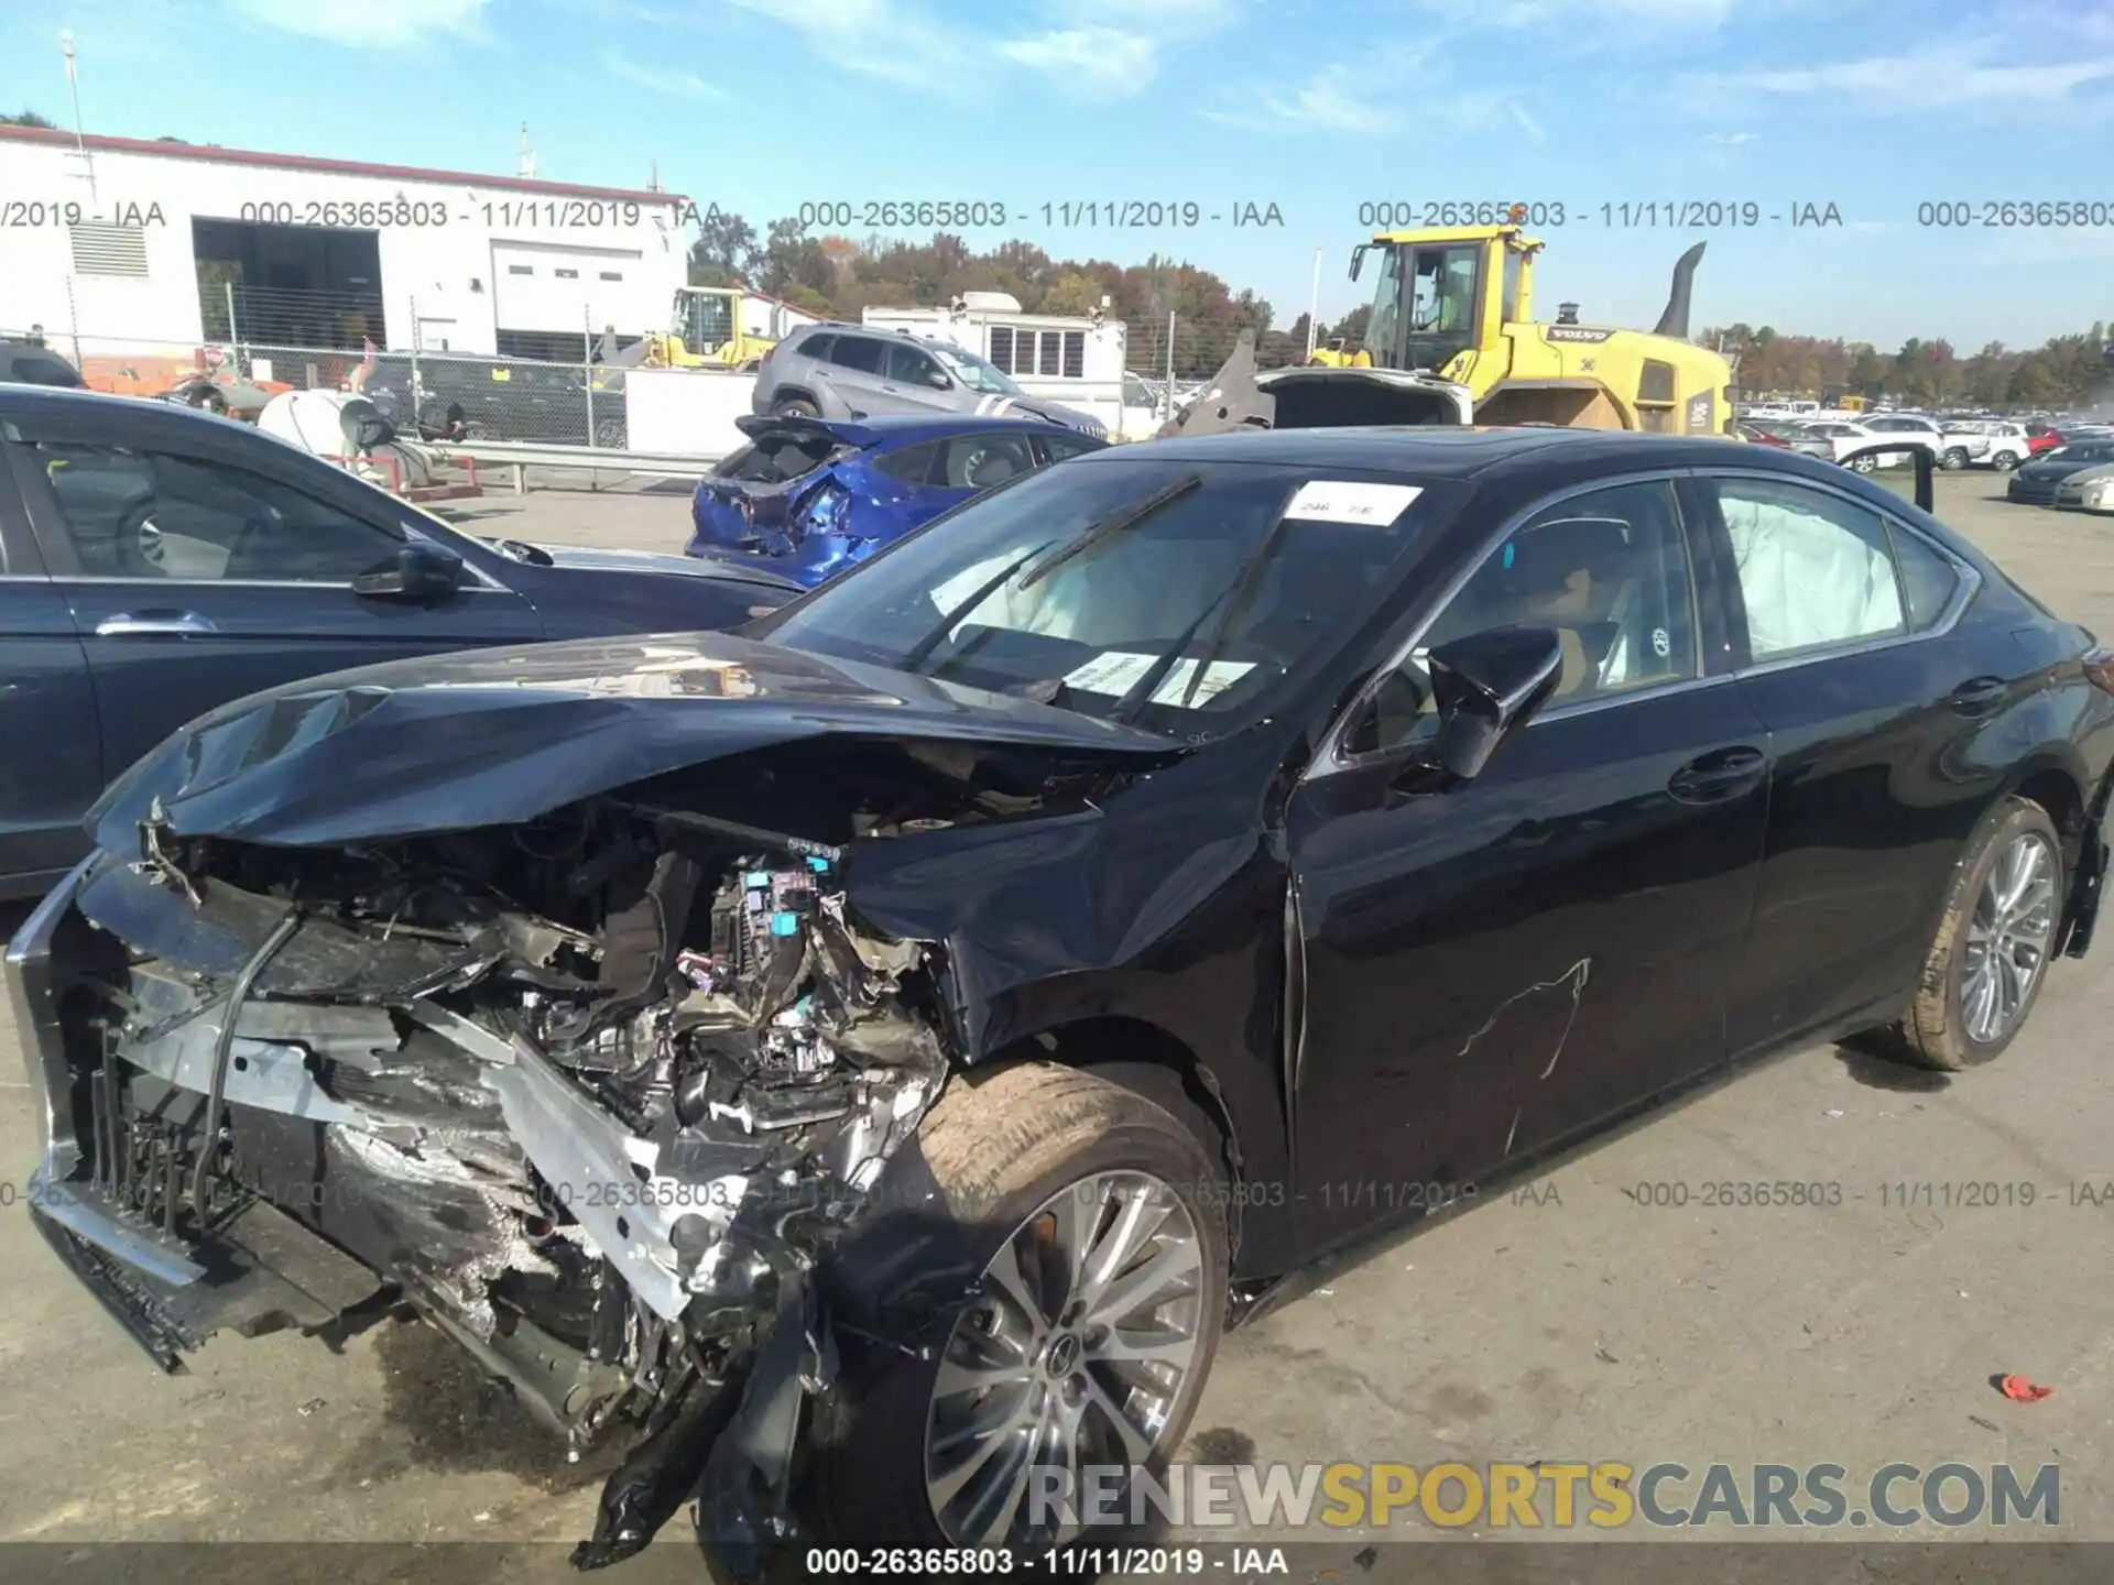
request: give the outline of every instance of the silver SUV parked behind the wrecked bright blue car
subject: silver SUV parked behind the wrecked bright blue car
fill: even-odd
[[[839,323],[799,325],[772,347],[757,370],[750,406],[761,414],[810,418],[1013,414],[1108,437],[1093,414],[1027,395],[996,363],[951,342]]]

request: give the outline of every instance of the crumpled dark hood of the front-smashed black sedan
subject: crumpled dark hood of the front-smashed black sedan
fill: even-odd
[[[1167,738],[719,632],[364,666],[226,704],[89,812],[108,852],[180,837],[355,843],[518,824],[596,792],[801,738],[1049,748],[1135,765]]]

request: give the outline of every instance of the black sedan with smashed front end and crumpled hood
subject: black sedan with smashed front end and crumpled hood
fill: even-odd
[[[1996,1059],[2110,761],[2114,655],[1839,467],[1114,448],[738,634],[167,740],[8,949],[36,1219],[165,1367],[397,1304],[628,1439],[581,1566],[691,1498],[736,1579],[1040,1551],[1427,1209],[1328,1186],[1465,1196],[1850,1031]]]

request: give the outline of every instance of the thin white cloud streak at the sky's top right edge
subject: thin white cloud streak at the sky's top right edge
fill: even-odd
[[[1900,55],[1867,55],[1824,66],[1750,72],[1691,72],[1679,89],[1698,106],[1826,95],[1860,110],[1958,110],[1977,104],[2042,104],[2091,82],[2114,80],[2114,55],[1996,63],[1989,40],[1934,42]]]

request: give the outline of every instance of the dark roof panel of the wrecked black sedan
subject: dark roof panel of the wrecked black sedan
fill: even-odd
[[[1778,465],[1776,446],[1744,446],[1717,435],[1647,435],[1630,429],[1520,427],[1427,427],[1376,425],[1349,429],[1251,429],[1230,435],[1154,440],[1146,446],[1112,446],[1095,452],[1095,465],[1123,456],[1154,456],[1199,463],[1292,463],[1300,467],[1357,467],[1378,473],[1421,478],[1482,478],[1512,467],[1700,467],[1725,463],[1725,446],[1740,446],[1740,465],[1767,459]],[[1803,459],[1801,459],[1803,461]],[[1805,467],[1791,469],[1805,471]],[[1841,469],[1831,469],[1839,473]]]

